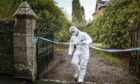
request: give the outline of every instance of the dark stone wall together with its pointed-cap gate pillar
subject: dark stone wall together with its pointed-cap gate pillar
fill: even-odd
[[[33,45],[36,14],[23,1],[13,20],[0,19],[0,74],[35,81],[36,48]]]

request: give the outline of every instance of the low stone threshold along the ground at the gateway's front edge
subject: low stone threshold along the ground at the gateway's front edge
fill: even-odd
[[[75,81],[61,81],[61,80],[53,80],[53,79],[41,79],[37,82],[37,84],[77,84]],[[82,84],[96,84],[93,82],[84,82]]]

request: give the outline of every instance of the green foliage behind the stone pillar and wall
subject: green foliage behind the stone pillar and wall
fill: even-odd
[[[0,18],[11,18],[22,0],[1,0]],[[69,38],[68,28],[71,23],[65,18],[62,11],[53,0],[28,0],[29,5],[37,14],[37,28],[48,28],[53,31],[56,40]]]

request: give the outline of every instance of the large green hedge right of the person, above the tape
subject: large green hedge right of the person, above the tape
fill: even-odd
[[[130,30],[140,28],[140,0],[117,0],[102,16],[90,23],[86,31],[94,42],[110,48],[129,48]]]

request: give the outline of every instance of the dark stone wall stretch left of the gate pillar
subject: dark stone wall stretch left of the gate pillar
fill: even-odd
[[[13,26],[14,20],[0,20],[0,74],[13,74]]]

